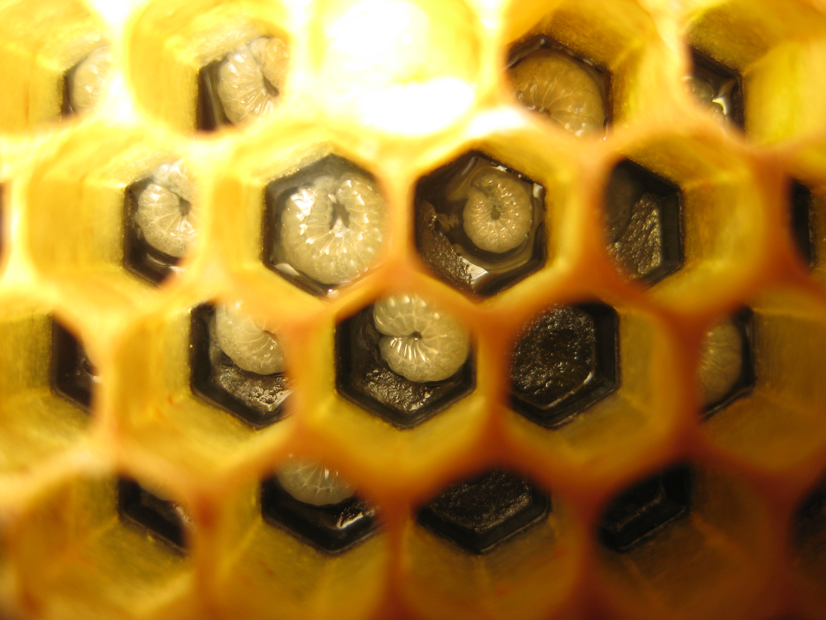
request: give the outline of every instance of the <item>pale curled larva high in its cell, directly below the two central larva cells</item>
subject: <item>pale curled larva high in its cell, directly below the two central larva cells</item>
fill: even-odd
[[[447,379],[468,359],[468,331],[418,295],[379,299],[373,322],[384,334],[379,349],[390,370],[416,383]]]

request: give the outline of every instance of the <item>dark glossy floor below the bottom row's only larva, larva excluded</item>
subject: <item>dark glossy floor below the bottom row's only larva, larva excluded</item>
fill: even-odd
[[[267,522],[329,553],[349,549],[376,528],[375,510],[357,497],[316,506],[292,497],[275,477],[261,485],[261,510]]]

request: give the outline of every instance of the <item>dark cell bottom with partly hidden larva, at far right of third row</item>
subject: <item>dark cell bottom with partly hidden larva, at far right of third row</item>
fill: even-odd
[[[709,417],[754,388],[754,322],[751,308],[715,323],[700,346],[700,405]]]

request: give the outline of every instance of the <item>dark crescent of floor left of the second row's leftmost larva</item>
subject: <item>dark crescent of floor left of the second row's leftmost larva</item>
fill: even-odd
[[[151,182],[151,179],[140,179],[126,188],[123,209],[123,265],[139,278],[148,280],[152,284],[159,284],[178,269],[180,259],[150,246],[135,220],[140,193]],[[183,198],[182,201],[188,205]]]

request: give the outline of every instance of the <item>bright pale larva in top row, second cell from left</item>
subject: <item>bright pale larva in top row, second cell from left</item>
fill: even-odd
[[[287,45],[261,37],[228,54],[218,69],[218,98],[233,123],[260,117],[273,108],[287,74]]]

